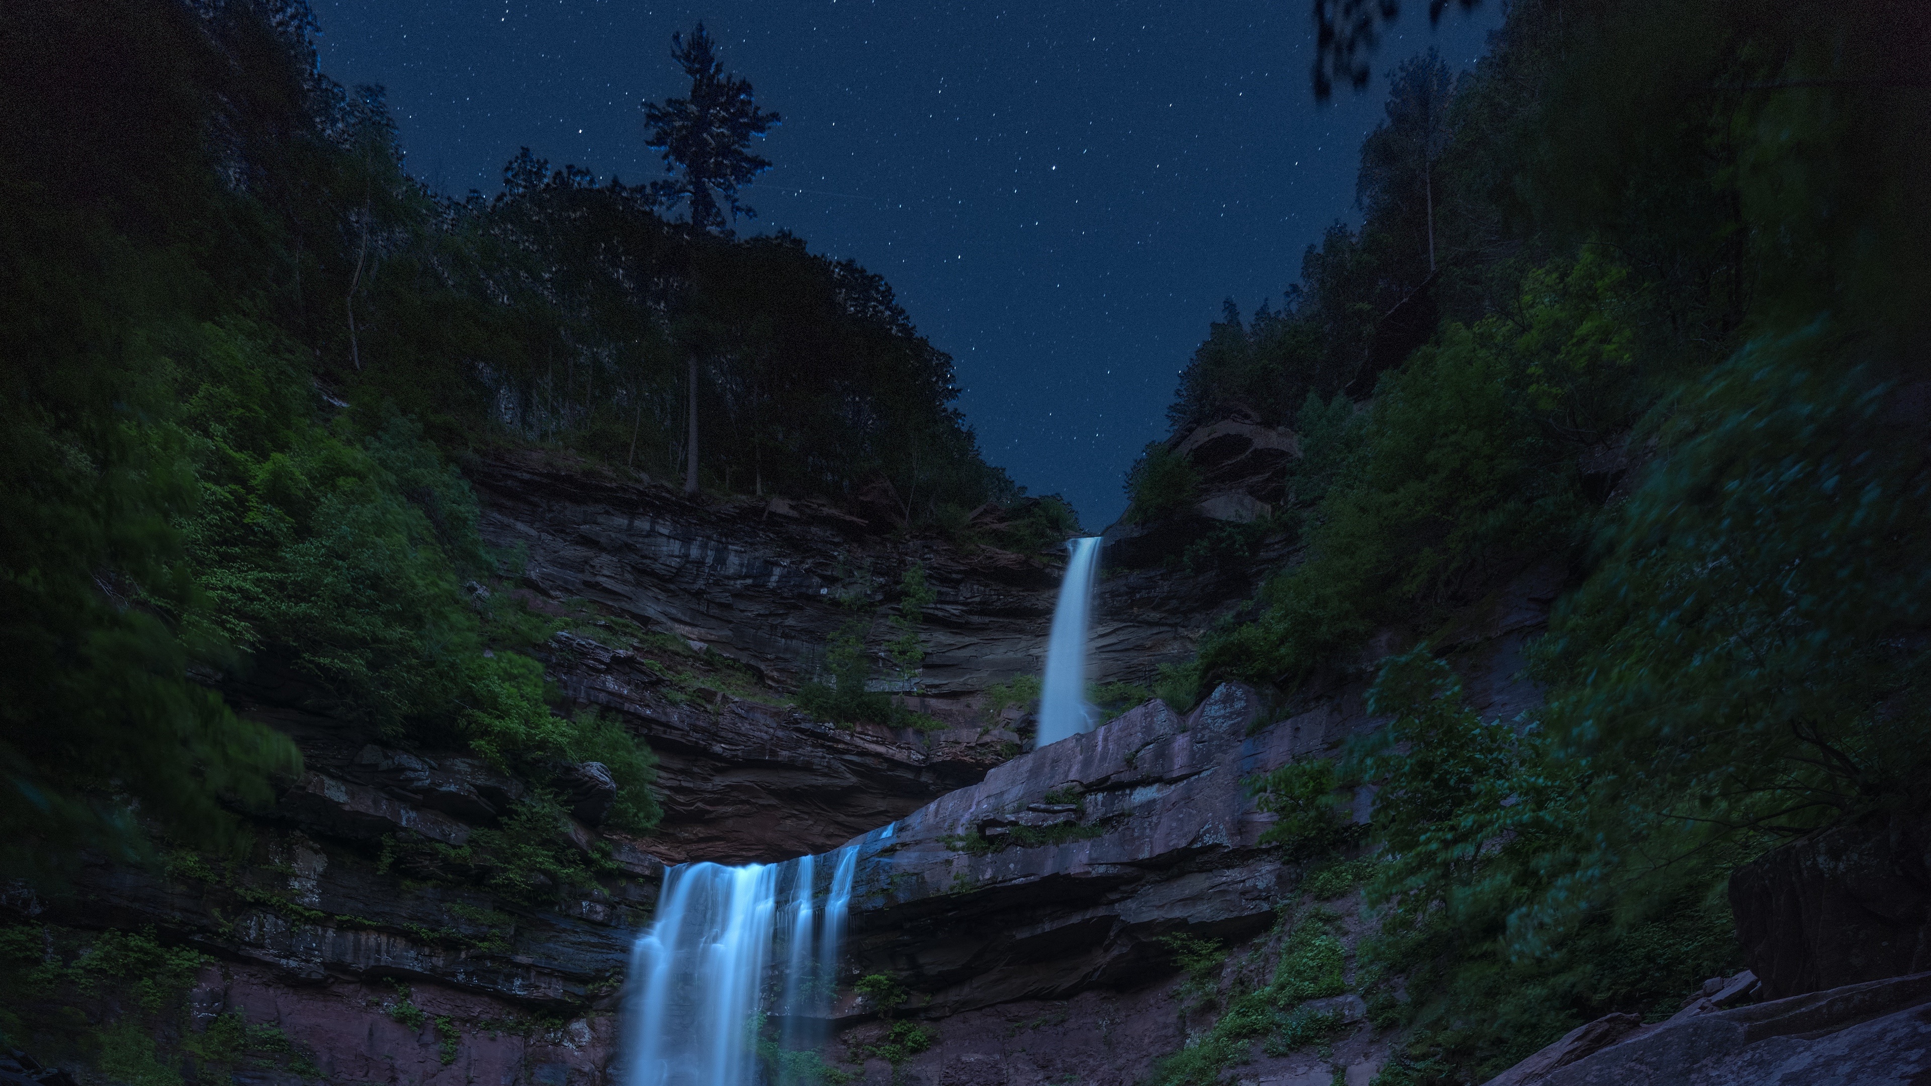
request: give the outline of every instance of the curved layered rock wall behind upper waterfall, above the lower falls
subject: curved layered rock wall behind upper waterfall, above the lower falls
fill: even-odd
[[[890,584],[925,564],[938,601],[925,609],[915,707],[956,725],[937,734],[832,729],[714,688],[699,688],[693,703],[635,651],[595,638],[552,645],[546,672],[566,694],[622,713],[662,757],[666,817],[653,848],[666,862],[823,852],[979,781],[1020,746],[991,727],[977,696],[1045,667],[1058,591],[1045,557],[894,537],[882,514],[865,520],[823,502],[697,504],[539,454],[475,464],[469,475],[485,499],[485,537],[525,551],[535,605],[589,599],[743,661],[778,688],[811,674],[848,618],[834,597],[859,570]],[[1114,566],[1095,591],[1095,680],[1149,682],[1253,587],[1249,566],[1188,576]]]

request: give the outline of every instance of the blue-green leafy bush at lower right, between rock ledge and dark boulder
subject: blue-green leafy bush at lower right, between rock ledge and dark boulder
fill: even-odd
[[[1381,931],[1361,955],[1371,987],[1408,976],[1415,1003],[1377,1016],[1429,1026],[1427,1059],[1493,1074],[1609,1009],[1674,1009],[1734,962],[1722,887],[1738,854],[1711,852],[1670,893],[1628,893],[1612,916],[1574,879],[1614,862],[1595,852],[1591,761],[1539,725],[1481,721],[1425,649],[1383,667],[1369,711],[1392,719],[1354,752],[1352,771],[1381,781],[1365,891]],[[1554,904],[1551,945],[1525,920]]]

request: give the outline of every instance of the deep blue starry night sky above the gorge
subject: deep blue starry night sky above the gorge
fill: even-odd
[[[498,191],[523,145],[662,176],[639,102],[686,93],[670,33],[703,19],[784,114],[740,232],[884,274],[958,361],[987,458],[1093,531],[1222,298],[1278,307],[1305,245],[1357,222],[1381,73],[1429,44],[1468,68],[1502,17],[1431,31],[1425,8],[1406,4],[1367,93],[1317,106],[1307,0],[315,2],[322,70],[386,85],[409,172],[456,195]]]

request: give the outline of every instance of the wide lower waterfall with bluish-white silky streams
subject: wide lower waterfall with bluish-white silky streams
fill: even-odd
[[[630,953],[626,1086],[817,1080],[855,872],[857,844],[664,872],[657,920]]]

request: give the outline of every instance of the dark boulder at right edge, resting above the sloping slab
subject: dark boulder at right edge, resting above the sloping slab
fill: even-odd
[[[1775,848],[1730,875],[1730,910],[1769,999],[1931,970],[1931,810]]]

